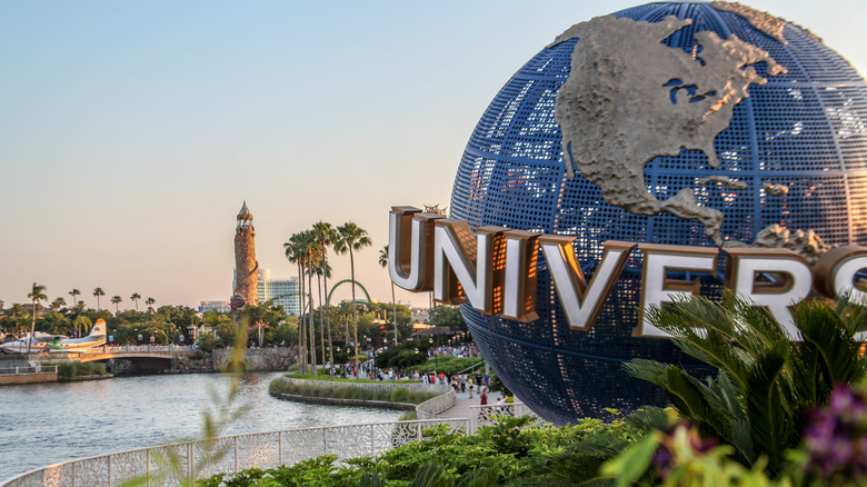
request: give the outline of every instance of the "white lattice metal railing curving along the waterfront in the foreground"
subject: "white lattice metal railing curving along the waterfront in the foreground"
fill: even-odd
[[[428,419],[236,435],[66,461],[19,475],[0,487],[110,487],[139,477],[147,478],[149,486],[173,486],[218,473],[295,465],[322,455],[336,455],[338,460],[376,457],[423,440],[425,428],[444,424],[452,433],[469,431],[468,419]],[[169,464],[176,467],[167,469]]]

